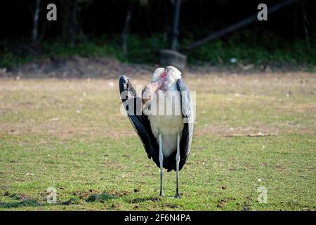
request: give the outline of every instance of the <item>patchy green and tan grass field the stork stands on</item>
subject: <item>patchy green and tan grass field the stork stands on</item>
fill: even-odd
[[[0,79],[0,210],[316,209],[316,74],[188,74],[197,120],[180,200],[175,172],[159,197],[117,82]]]

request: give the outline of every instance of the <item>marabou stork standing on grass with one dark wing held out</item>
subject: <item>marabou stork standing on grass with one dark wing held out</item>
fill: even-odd
[[[131,80],[126,75],[119,79],[119,91],[124,108],[133,128],[146,150],[148,158],[160,168],[160,196],[163,192],[163,168],[176,171],[176,195],[180,198],[178,173],[189,156],[193,134],[193,106],[190,91],[181,77],[181,72],[169,66],[157,68],[152,74],[152,83],[142,91],[142,98],[136,94]],[[178,94],[176,94],[178,93]],[[154,98],[154,96],[159,96]],[[163,103],[159,102],[162,97]],[[143,104],[142,104],[143,103]],[[178,110],[178,114],[145,113],[156,103],[161,107]],[[143,107],[142,107],[143,105]]]

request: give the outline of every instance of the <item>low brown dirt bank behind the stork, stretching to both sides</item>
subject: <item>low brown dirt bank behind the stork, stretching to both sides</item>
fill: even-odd
[[[151,74],[158,64],[145,65],[136,63],[121,63],[114,58],[85,58],[81,56],[70,56],[60,58],[46,58],[35,60],[33,63],[12,68],[8,72],[1,72],[2,77],[19,77],[19,78],[87,78],[103,77],[113,78],[121,74],[129,75],[148,75]],[[293,68],[291,65],[270,65],[248,68],[244,65],[236,66],[189,66],[185,72],[200,75],[220,74],[220,75],[253,75],[267,74],[275,72],[293,72],[298,73],[306,70],[304,66]]]

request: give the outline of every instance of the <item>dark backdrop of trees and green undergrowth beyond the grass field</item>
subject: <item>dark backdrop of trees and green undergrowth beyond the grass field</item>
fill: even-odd
[[[239,29],[233,27],[231,32],[189,50],[195,41],[256,16],[258,4],[263,2],[183,0],[176,49],[187,56],[189,68],[315,71],[316,1],[291,1],[269,13],[269,8],[284,2],[289,1],[265,0],[268,21],[253,20]],[[57,6],[57,21],[46,19],[50,3]],[[2,1],[2,75],[31,62],[37,64],[19,71],[45,73],[65,64],[63,60],[83,65],[91,62],[81,62],[84,58],[107,58],[102,65],[118,66],[119,62],[154,68],[159,64],[159,50],[170,46],[174,4],[171,0]],[[96,60],[93,63],[98,64]],[[80,76],[82,72],[66,73]],[[54,75],[60,73],[54,71]]]

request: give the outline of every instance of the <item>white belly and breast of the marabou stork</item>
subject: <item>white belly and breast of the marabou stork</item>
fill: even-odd
[[[164,101],[161,101],[162,97]],[[181,138],[183,131],[180,95],[175,95],[171,91],[159,91],[155,100],[157,108],[153,107],[152,103],[152,111],[156,113],[150,115],[150,127],[157,143],[159,134],[162,134],[162,152],[168,157],[177,150],[177,136],[179,134]]]

